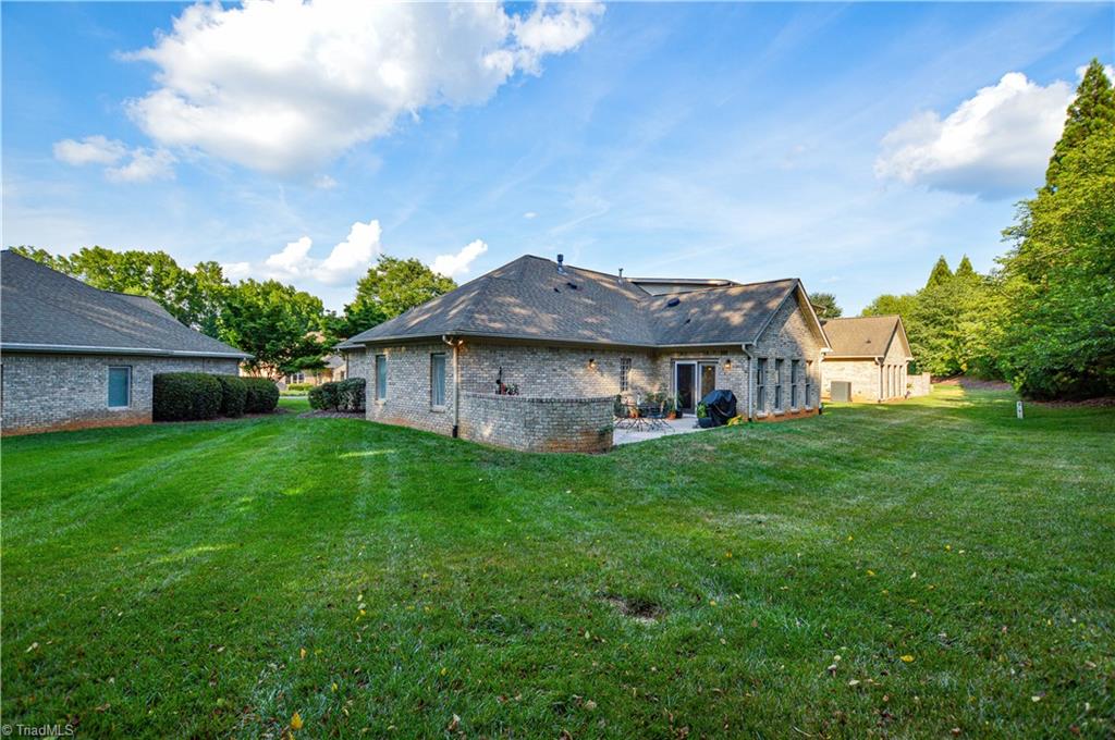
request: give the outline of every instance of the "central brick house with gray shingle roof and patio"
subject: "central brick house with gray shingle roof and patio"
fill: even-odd
[[[828,343],[798,280],[653,294],[558,260],[520,257],[340,344],[368,380],[368,419],[593,450],[611,445],[617,395],[663,390],[692,413],[729,389],[749,418],[816,412]]]

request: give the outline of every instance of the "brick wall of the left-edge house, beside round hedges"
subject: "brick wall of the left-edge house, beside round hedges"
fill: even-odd
[[[105,354],[3,356],[4,435],[149,423],[156,372],[237,374],[236,360]],[[108,368],[132,368],[130,402],[108,408]]]

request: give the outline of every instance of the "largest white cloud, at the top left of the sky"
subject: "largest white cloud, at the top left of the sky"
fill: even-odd
[[[599,3],[248,0],[194,4],[154,46],[158,88],[127,103],[165,147],[196,147],[253,169],[311,171],[390,132],[403,114],[478,104],[516,71],[576,48]]]

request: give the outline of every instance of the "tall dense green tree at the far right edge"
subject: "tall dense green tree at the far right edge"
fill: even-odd
[[[1101,76],[1103,79],[1101,79]],[[997,351],[1026,396],[1115,393],[1115,117],[1093,62],[1069,107],[1049,186],[1004,231]]]

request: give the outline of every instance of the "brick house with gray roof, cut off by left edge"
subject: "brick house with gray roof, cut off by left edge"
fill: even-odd
[[[149,298],[97,290],[7,250],[0,273],[4,435],[147,423],[155,373],[236,374],[249,357]]]

